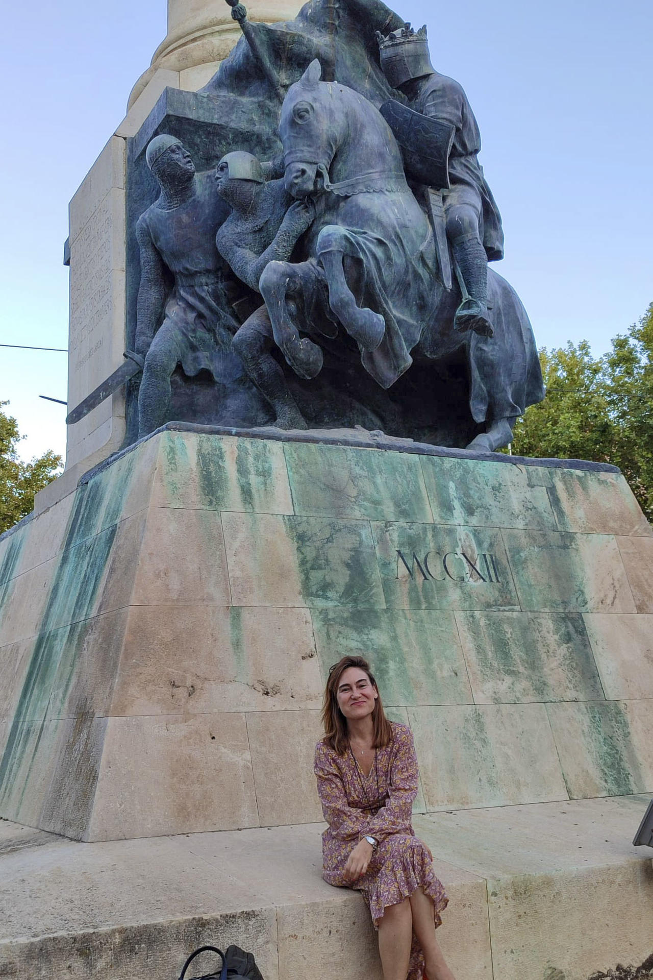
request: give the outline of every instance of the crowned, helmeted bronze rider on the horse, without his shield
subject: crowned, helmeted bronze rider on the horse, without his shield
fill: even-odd
[[[446,235],[468,294],[463,289],[454,322],[459,330],[490,335],[488,262],[503,258],[503,231],[478,160],[479,125],[462,86],[434,70],[426,26],[415,31],[406,24],[387,36],[379,32],[376,36],[381,68],[393,88],[406,96],[414,111],[453,127],[443,206]],[[441,179],[434,183],[438,190]]]

